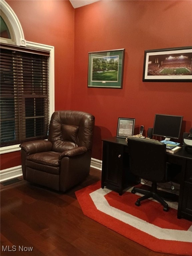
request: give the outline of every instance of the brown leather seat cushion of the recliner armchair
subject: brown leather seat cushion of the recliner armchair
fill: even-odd
[[[26,166],[47,173],[59,174],[60,161],[58,152],[41,152],[26,157]]]

